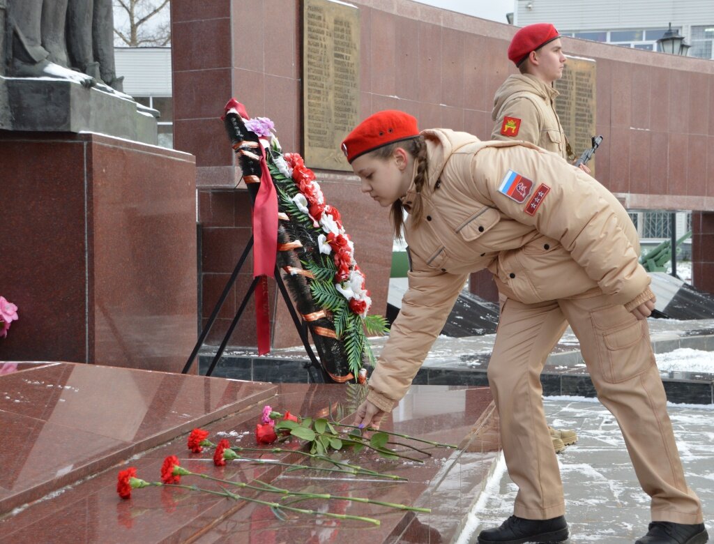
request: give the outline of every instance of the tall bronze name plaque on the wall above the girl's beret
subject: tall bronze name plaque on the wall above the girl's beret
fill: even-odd
[[[351,171],[340,144],[359,119],[359,10],[303,4],[303,138],[310,168]]]

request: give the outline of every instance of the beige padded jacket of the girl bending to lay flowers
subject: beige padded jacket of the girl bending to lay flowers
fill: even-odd
[[[405,395],[469,273],[488,268],[499,291],[523,303],[599,289],[630,311],[652,298],[637,231],[598,181],[531,143],[422,134],[428,181],[421,193],[412,184],[403,204],[421,198],[423,219],[406,221],[409,288],[369,381],[376,406],[389,411]],[[499,191],[509,171],[526,178],[516,200]]]

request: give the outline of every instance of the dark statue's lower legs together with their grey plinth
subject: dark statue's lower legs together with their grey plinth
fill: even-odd
[[[121,92],[113,33],[111,0],[1,0],[0,129],[156,144],[158,112]]]

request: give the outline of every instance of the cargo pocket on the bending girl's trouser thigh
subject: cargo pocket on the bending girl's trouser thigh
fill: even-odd
[[[590,312],[598,344],[598,363],[609,383],[629,380],[652,364],[645,321],[638,321],[624,306]]]

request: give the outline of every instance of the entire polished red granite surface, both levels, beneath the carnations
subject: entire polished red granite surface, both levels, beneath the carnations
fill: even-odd
[[[5,438],[0,446],[0,542],[262,544],[352,538],[370,543],[436,543],[453,539],[499,449],[498,418],[488,388],[413,386],[383,423],[385,430],[458,444],[458,449],[426,446],[431,455],[414,454],[423,463],[387,460],[365,451],[336,454],[372,470],[401,475],[407,482],[287,471],[245,461],[217,468],[212,450],[191,453],[186,448],[186,435],[197,426],[206,428],[214,443],[228,438],[233,445],[254,447],[253,430],[266,403],[283,413],[331,416],[351,423],[363,395],[364,388],[356,385],[273,385],[68,363],[20,363],[16,371],[0,376],[0,428]],[[283,447],[300,448],[293,440]],[[366,515],[380,520],[376,527],[291,513],[281,520],[267,506],[185,489],[151,487],[134,490],[131,500],[119,498],[119,470],[135,466],[139,478],[158,481],[162,460],[171,454],[178,455],[189,470],[217,478],[243,482],[257,478],[282,488],[368,497],[432,511],[404,513],[345,501],[331,501],[328,506],[315,500],[296,504]],[[319,463],[306,463],[303,455],[293,451],[245,455]],[[183,483],[218,489],[216,483],[196,477],[184,477]],[[248,490],[235,491],[248,495]],[[260,495],[266,500],[277,496]]]

